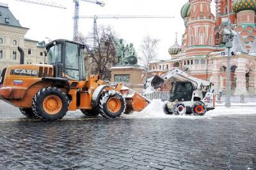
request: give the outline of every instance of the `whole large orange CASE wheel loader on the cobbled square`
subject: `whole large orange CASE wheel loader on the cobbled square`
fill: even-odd
[[[141,111],[149,103],[145,97],[121,83],[109,85],[99,75],[86,79],[84,45],[65,39],[48,43],[47,64],[24,64],[3,69],[0,77],[0,99],[20,109],[29,118],[55,121],[68,110],[81,110],[88,117],[99,114],[117,118],[122,113]]]

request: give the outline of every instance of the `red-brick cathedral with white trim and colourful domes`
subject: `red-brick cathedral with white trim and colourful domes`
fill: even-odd
[[[151,62],[148,76],[179,67],[192,76],[214,83],[216,93],[225,93],[227,48],[223,30],[228,25],[229,10],[231,29],[236,32],[231,49],[232,94],[256,94],[256,0],[229,1],[230,9],[228,0],[214,1],[215,16],[211,0],[190,0],[184,4],[180,11],[186,27],[182,45],[176,39],[169,48],[171,59]]]

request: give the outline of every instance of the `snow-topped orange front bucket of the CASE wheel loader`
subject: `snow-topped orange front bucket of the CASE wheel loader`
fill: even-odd
[[[138,94],[138,92],[135,92],[134,90],[127,88],[121,90],[121,93],[125,97],[126,101],[126,114],[132,113],[132,111],[142,111],[150,103],[148,99],[141,96],[140,94]]]

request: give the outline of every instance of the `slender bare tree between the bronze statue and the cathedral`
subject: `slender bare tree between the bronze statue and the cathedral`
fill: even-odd
[[[148,71],[150,62],[157,59],[156,50],[159,41],[159,39],[150,38],[150,36],[147,35],[141,42],[140,50],[142,55],[139,57],[139,59],[141,60],[146,71]]]

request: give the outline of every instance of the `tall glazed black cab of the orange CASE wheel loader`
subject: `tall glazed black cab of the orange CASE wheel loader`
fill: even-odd
[[[54,66],[55,77],[65,77],[68,80],[83,81],[86,80],[83,50],[84,45],[57,39],[48,43],[47,64]]]

